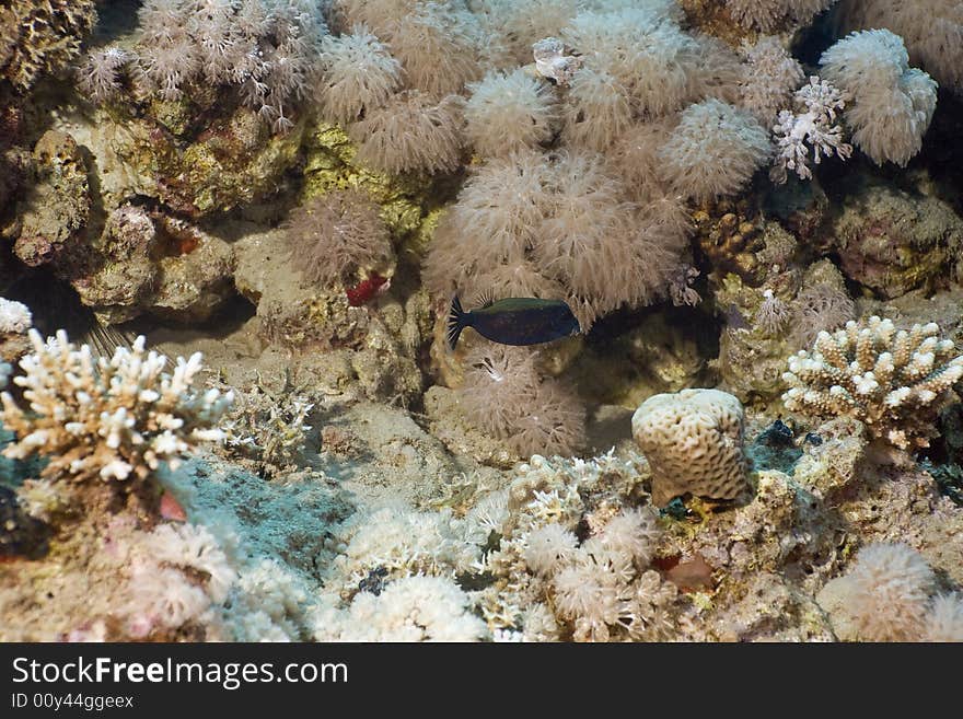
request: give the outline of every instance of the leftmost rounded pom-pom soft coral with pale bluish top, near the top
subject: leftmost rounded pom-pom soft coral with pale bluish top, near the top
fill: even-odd
[[[318,102],[325,119],[352,123],[387,102],[401,85],[401,65],[364,25],[352,27],[350,35],[325,37],[321,47]]]

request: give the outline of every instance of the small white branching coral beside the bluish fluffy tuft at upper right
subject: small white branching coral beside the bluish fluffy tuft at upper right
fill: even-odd
[[[809,84],[796,92],[797,112],[782,109],[773,128],[776,134],[778,152],[774,166],[774,178],[786,181],[787,170],[792,170],[802,179],[812,177],[809,166],[809,150],[812,161],[820,164],[823,156],[834,154],[846,160],[852,147],[843,141],[843,128],[836,123],[836,112],[846,106],[843,93],[825,80],[812,77]]]

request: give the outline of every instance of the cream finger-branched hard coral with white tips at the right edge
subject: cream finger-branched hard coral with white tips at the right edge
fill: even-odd
[[[929,445],[936,413],[963,378],[963,356],[936,323],[896,330],[872,316],[821,332],[812,351],[789,358],[786,408],[819,418],[847,416],[873,437],[908,450]]]

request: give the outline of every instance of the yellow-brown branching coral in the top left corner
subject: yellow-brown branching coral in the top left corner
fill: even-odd
[[[18,0],[0,8],[0,79],[21,92],[67,67],[96,23],[93,0]]]

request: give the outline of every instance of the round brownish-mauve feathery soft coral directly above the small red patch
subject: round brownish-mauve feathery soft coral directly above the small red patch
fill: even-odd
[[[352,285],[369,271],[386,272],[394,253],[379,207],[359,189],[318,195],[286,221],[288,246],[310,281]]]

